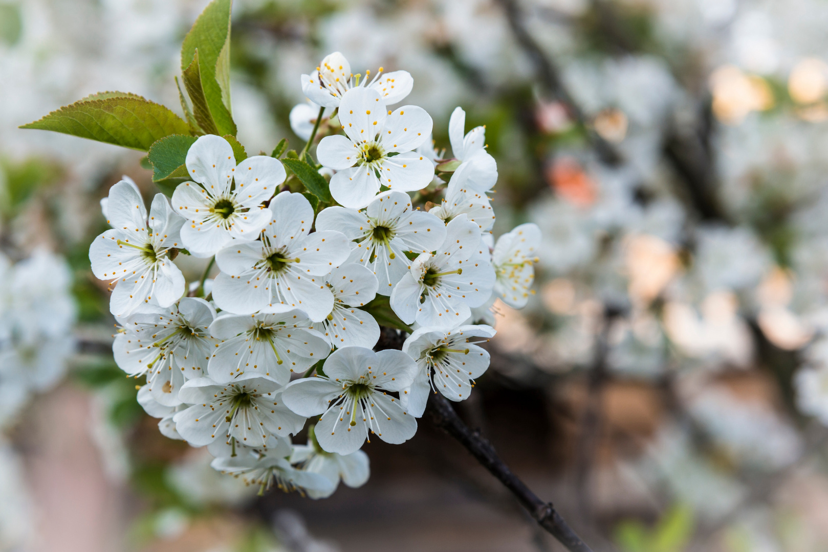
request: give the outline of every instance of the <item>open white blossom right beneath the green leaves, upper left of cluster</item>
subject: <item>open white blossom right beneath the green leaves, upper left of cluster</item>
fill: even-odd
[[[173,208],[187,219],[181,228],[184,247],[194,257],[211,257],[233,240],[258,238],[272,219],[262,204],[286,177],[282,163],[253,156],[237,166],[229,142],[208,134],[190,146],[185,164],[195,181],[178,185],[172,194]]]

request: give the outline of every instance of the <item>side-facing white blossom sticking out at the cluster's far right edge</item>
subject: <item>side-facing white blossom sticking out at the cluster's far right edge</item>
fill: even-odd
[[[515,309],[522,309],[529,300],[529,288],[535,279],[532,263],[534,252],[541,245],[541,229],[526,223],[498,238],[492,252],[492,266],[497,278],[494,295]]]

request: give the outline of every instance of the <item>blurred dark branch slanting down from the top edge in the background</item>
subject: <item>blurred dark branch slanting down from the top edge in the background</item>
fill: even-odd
[[[498,3],[503,7],[506,13],[506,19],[509,27],[512,29],[512,34],[517,41],[517,45],[521,47],[523,52],[527,55],[532,65],[537,71],[537,78],[546,89],[548,94],[559,99],[570,113],[570,117],[575,119],[586,132],[586,137],[590,141],[590,145],[595,149],[601,161],[608,165],[618,165],[622,161],[621,154],[609,142],[599,135],[590,126],[589,120],[585,113],[581,111],[575,99],[569,93],[569,90],[561,80],[560,72],[556,65],[549,59],[549,57],[538,46],[537,41],[529,34],[526,26],[523,25],[523,18],[520,7],[517,6],[515,0],[498,0]]]

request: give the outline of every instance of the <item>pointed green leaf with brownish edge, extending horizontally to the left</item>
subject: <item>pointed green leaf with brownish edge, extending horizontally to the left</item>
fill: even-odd
[[[190,133],[190,125],[158,103],[134,94],[100,97],[106,94],[121,93],[94,94],[95,99],[72,103],[21,128],[63,132],[141,151],[171,134]]]

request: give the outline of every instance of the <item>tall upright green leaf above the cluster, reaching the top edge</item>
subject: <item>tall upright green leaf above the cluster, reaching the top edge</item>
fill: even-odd
[[[230,9],[232,0],[213,0],[195,20],[181,45],[181,70],[186,70],[199,52],[198,66],[204,98],[219,135],[236,134],[229,110]],[[221,81],[221,82],[219,82]],[[190,89],[188,88],[189,92]],[[192,96],[190,96],[192,98]],[[226,99],[226,103],[225,103]],[[193,99],[195,103],[195,99]],[[194,107],[195,110],[195,107]],[[207,129],[204,129],[207,132]]]

